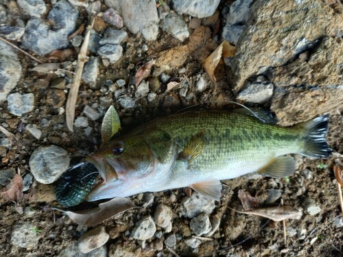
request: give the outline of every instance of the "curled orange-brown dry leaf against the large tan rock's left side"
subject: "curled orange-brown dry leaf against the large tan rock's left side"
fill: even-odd
[[[236,47],[230,45],[229,42],[223,41],[211,55],[204,60],[202,66],[204,67],[206,73],[209,75],[210,79],[213,83],[217,82],[215,78],[214,72],[215,68],[217,68],[220,60],[223,58],[228,58],[231,56],[235,56]]]

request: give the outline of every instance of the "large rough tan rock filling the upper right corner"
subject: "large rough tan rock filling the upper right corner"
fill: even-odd
[[[342,16],[324,1],[255,1],[231,65],[235,93],[264,75],[283,125],[340,108],[342,34]]]

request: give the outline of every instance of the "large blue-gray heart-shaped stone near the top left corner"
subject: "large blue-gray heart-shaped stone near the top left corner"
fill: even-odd
[[[47,20],[54,26],[34,18],[27,22],[22,45],[40,56],[69,46],[68,36],[75,31],[78,10],[65,0],[58,1]]]

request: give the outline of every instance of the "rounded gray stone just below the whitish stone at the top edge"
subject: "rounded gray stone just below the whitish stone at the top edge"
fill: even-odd
[[[161,28],[181,42],[189,37],[187,23],[185,23],[184,19],[182,19],[182,16],[176,14],[175,12],[168,14],[165,19],[162,20]]]

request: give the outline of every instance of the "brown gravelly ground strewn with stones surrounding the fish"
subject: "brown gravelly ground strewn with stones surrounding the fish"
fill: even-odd
[[[342,256],[333,175],[343,154],[342,10],[335,0],[1,1],[1,38],[36,58],[0,40],[1,192],[15,173],[23,178],[23,197],[1,194],[1,256]],[[66,99],[95,14],[71,133]],[[202,63],[223,40],[237,49],[213,82]],[[134,195],[139,208],[95,227],[51,209],[56,180],[98,149],[110,105],[127,130],[230,100],[270,108],[280,125],[329,113],[333,156],[295,156],[287,180],[223,182],[218,202],[182,189]],[[283,199],[301,209],[286,222],[286,242],[282,222],[230,209],[242,209],[240,189],[262,207]]]

